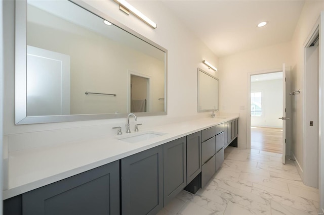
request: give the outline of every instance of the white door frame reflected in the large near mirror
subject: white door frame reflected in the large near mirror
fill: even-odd
[[[139,76],[142,78],[148,79],[148,85],[147,85],[147,98],[146,98],[146,112],[151,111],[151,94],[150,94],[150,89],[151,89],[151,76],[144,75],[138,72],[133,72],[131,70],[128,70],[127,72],[127,112],[131,113],[131,75]]]

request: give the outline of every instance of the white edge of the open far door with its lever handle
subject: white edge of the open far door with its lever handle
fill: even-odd
[[[287,144],[287,120],[290,120],[287,114],[287,78],[286,78],[286,65],[282,65],[282,164],[286,164],[286,144]]]

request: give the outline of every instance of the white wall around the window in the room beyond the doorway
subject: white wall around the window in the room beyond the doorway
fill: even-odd
[[[262,116],[251,116],[251,126],[282,128],[282,79],[251,82],[251,92],[262,92]]]

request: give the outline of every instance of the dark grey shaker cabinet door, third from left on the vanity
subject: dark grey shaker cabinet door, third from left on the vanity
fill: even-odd
[[[164,205],[187,185],[186,137],[163,145]]]

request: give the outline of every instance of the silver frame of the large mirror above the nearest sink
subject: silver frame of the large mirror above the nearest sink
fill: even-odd
[[[145,38],[127,26],[110,18],[103,12],[93,8],[82,1],[67,0],[88,12],[101,17],[114,24],[116,27],[125,30],[135,37],[149,43],[150,45],[165,52],[165,103],[164,112],[147,112],[136,113],[137,116],[159,116],[167,115],[167,73],[168,73],[168,50],[155,42]],[[27,95],[26,95],[26,80],[27,80],[27,0],[15,1],[15,125],[20,124],[36,124],[36,123],[55,123],[55,122],[70,122],[70,121],[85,121],[85,120],[102,120],[126,118],[125,114],[82,114],[82,115],[56,115],[56,116],[27,116]]]

